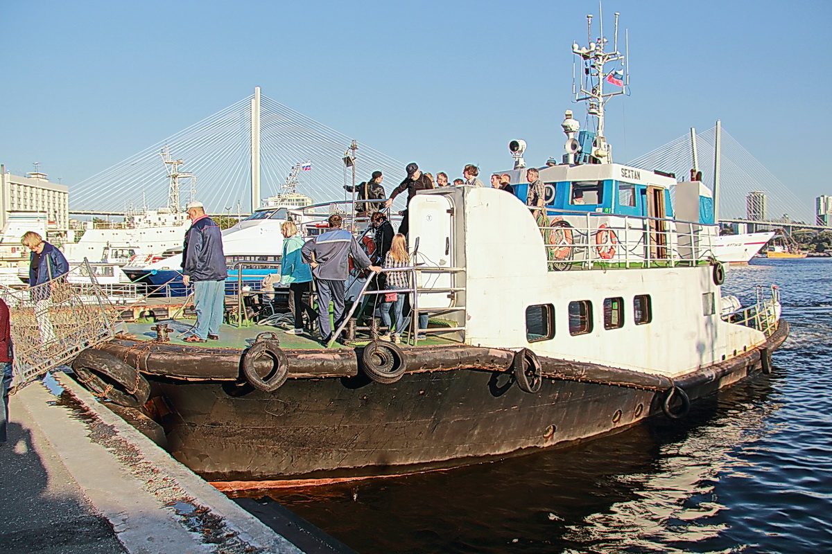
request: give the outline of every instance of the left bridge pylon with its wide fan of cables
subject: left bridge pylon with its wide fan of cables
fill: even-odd
[[[182,160],[177,170],[186,172],[180,175],[180,208],[196,199],[208,213],[250,213],[255,181],[260,182],[255,200],[279,194],[297,164],[310,167],[299,173],[298,192],[314,202],[352,199],[344,190],[344,184],[352,184],[352,169],[344,164],[351,143],[347,135],[255,91],[73,185],[70,212],[119,214],[168,207],[171,163],[165,163],[163,153],[169,162]],[[380,170],[389,192],[404,179],[405,164],[399,160],[360,142],[355,154],[357,182]]]

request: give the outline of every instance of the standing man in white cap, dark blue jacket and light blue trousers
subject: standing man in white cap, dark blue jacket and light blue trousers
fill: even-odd
[[[222,233],[214,220],[206,215],[201,202],[187,206],[191,228],[185,235],[182,251],[182,282],[194,284],[196,326],[194,335],[186,342],[206,342],[220,339],[220,325],[225,311],[225,253],[222,252]]]

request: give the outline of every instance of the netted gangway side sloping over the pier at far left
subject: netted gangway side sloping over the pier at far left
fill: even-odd
[[[11,315],[16,389],[115,334],[118,308],[86,261],[36,287],[2,287],[0,297]]]

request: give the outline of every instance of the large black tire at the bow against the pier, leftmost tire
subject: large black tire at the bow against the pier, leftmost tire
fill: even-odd
[[[141,408],[151,395],[151,385],[139,370],[106,352],[82,351],[72,360],[72,370],[93,395],[126,408]]]

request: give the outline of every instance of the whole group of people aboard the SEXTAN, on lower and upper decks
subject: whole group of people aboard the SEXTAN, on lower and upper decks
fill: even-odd
[[[408,208],[400,212],[403,216],[399,226],[399,233],[394,233],[393,226],[384,215],[383,209],[389,208],[399,194],[407,191],[408,204],[420,190],[451,186],[448,175],[440,172],[434,184],[433,175],[423,173],[417,164],[410,163],[405,168],[407,177],[385,198],[384,175],[374,171],[369,181],[353,187],[344,185],[344,189],[354,192],[359,200],[356,203],[357,215],[370,216],[370,223],[375,231],[375,250],[372,259],[364,252],[359,241],[348,230],[342,228],[343,219],[338,214],[329,217],[329,230],[317,237],[305,240],[299,233],[297,225],[292,221],[283,224],[281,230],[285,238],[283,256],[281,258],[280,282],[289,285],[290,304],[295,316],[295,325],[287,331],[292,335],[312,332],[312,322],[317,320],[320,341],[329,344],[332,341],[334,329],[344,322],[346,302],[346,281],[349,277],[349,259],[361,269],[382,272],[383,269],[394,267],[409,267],[410,257],[407,249]],[[475,187],[485,186],[478,178],[479,170],[475,165],[468,164],[463,168],[463,179],[457,179],[454,184]],[[539,219],[545,218],[543,197],[545,189],[539,178],[537,169],[531,168],[526,174],[529,182],[526,203],[537,212]],[[514,194],[509,174],[494,174],[491,179],[494,188]],[[219,339],[220,324],[224,311],[225,278],[228,276],[225,267],[225,255],[222,252],[222,237],[220,228],[208,218],[201,203],[191,203],[187,206],[188,216],[191,218],[191,229],[186,234],[185,250],[183,252],[182,268],[183,281],[186,286],[194,285],[196,306],[196,326],[193,335],[187,337],[188,342],[206,342]],[[402,291],[411,287],[410,272],[384,272],[383,276],[374,277],[375,287],[381,290]],[[319,310],[304,301],[304,296],[311,292],[314,282],[318,293]],[[376,295],[384,302],[380,311],[382,323],[388,332],[382,336],[385,340],[399,341],[402,331],[409,324],[409,295],[407,292],[390,292]],[[329,319],[329,303],[333,305],[333,320]],[[308,323],[304,324],[304,316]],[[418,318],[419,338],[423,338],[423,330],[428,326],[428,316],[420,314]],[[334,325],[334,328],[333,328]]]

